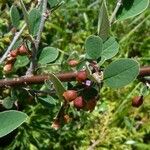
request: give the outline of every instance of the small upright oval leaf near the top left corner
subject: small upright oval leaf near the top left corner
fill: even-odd
[[[10,9],[10,18],[11,18],[13,26],[18,28],[19,21],[20,21],[20,15],[19,15],[19,11],[18,11],[17,7],[14,5],[12,5],[12,7]]]

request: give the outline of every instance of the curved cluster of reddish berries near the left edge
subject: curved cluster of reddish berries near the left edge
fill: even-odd
[[[24,44],[22,44],[20,47],[16,48],[15,50],[12,50],[9,53],[9,55],[6,59],[5,65],[3,67],[3,71],[5,73],[10,73],[13,70],[13,65],[14,65],[18,55],[30,56],[30,52]]]

